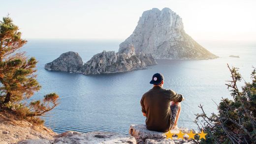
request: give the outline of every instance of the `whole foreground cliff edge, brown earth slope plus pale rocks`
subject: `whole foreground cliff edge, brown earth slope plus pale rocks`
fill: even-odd
[[[187,128],[180,130],[189,133]],[[179,130],[171,132],[179,133]],[[27,120],[0,112],[0,144],[192,144],[175,137],[167,140],[165,133],[149,131],[145,125],[130,125],[129,134],[75,131],[56,134],[43,125],[33,125]],[[187,139],[188,135],[184,138]]]

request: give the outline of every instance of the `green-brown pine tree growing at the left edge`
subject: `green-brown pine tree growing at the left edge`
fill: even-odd
[[[42,101],[27,104],[41,86],[34,74],[36,59],[26,58],[20,49],[27,43],[21,38],[18,26],[7,16],[0,21],[0,111],[42,122],[37,116],[45,115],[58,105],[56,93],[47,94]]]

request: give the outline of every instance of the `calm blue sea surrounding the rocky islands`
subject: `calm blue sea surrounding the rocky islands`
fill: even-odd
[[[140,99],[151,89],[154,73],[164,75],[164,88],[185,96],[178,126],[196,129],[194,114],[204,106],[208,114],[216,112],[216,103],[228,97],[224,85],[230,80],[226,63],[239,67],[245,81],[250,82],[252,66],[256,66],[256,42],[198,41],[220,58],[211,60],[157,60],[158,65],[145,70],[108,75],[70,74],[44,69],[44,64],[67,51],[78,52],[86,62],[96,53],[118,51],[122,40],[47,40],[29,39],[23,48],[28,57],[35,57],[37,80],[42,86],[32,99],[56,92],[60,105],[43,117],[46,126],[57,133],[110,131],[128,134],[130,124],[143,124]],[[240,58],[230,58],[239,55]],[[243,85],[241,82],[240,85]]]

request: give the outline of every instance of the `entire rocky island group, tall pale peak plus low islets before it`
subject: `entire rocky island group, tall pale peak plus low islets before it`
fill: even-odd
[[[156,59],[218,58],[194,41],[183,29],[182,19],[169,8],[143,12],[133,33],[120,44],[118,53],[103,51],[83,64],[78,53],[67,52],[45,64],[46,70],[108,74],[145,69]]]

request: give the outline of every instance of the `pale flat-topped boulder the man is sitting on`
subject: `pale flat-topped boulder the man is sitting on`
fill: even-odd
[[[179,131],[183,133],[189,133],[190,130],[188,128],[179,128],[171,130],[171,133],[179,133]],[[146,125],[130,125],[129,134],[133,136],[138,144],[183,144],[188,143],[186,140],[179,139],[177,140],[176,137],[172,137],[173,140],[166,139],[165,133],[157,132],[157,131],[150,131],[146,128]],[[188,138],[186,134],[184,138]]]

